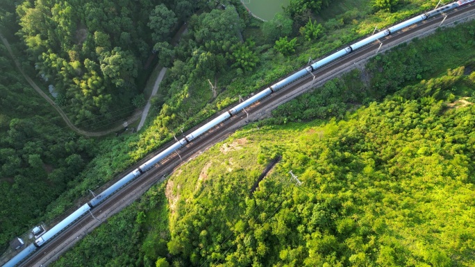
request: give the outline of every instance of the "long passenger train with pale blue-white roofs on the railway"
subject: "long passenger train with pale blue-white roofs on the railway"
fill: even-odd
[[[144,172],[151,169],[151,167],[157,164],[158,162],[164,160],[166,157],[168,157],[169,155],[172,155],[172,153],[183,148],[184,146],[187,146],[188,144],[190,144],[191,141],[193,141],[194,139],[197,139],[198,137],[203,135],[205,132],[208,132],[208,130],[214,128],[215,126],[218,126],[223,121],[226,121],[227,119],[235,116],[236,114],[244,110],[244,108],[249,107],[250,105],[253,105],[253,103],[260,101],[261,99],[265,98],[266,96],[269,96],[270,94],[277,92],[280,89],[283,89],[284,87],[290,85],[291,83],[294,83],[296,80],[299,80],[303,78],[304,76],[308,76],[312,74],[313,71],[321,68],[325,64],[328,64],[329,62],[333,62],[334,60],[337,60],[338,58],[342,58],[344,55],[348,55],[349,53],[357,49],[360,49],[363,46],[372,44],[372,42],[379,40],[382,37],[385,37],[397,31],[401,31],[401,29],[417,24],[420,21],[424,21],[428,19],[429,17],[435,17],[437,15],[443,14],[444,12],[453,10],[455,8],[466,5],[468,3],[472,3],[474,1],[475,0],[456,1],[453,3],[449,3],[445,6],[441,6],[440,8],[437,8],[435,10],[425,12],[422,15],[417,15],[416,17],[412,17],[411,19],[408,19],[399,24],[391,26],[390,28],[387,28],[384,31],[380,31],[379,33],[366,37],[363,40],[360,40],[354,44],[351,44],[350,46],[347,46],[346,48],[341,49],[340,51],[332,53],[331,55],[328,55],[327,57],[322,58],[322,60],[318,60],[317,62],[310,64],[308,67],[305,67],[295,72],[294,74],[284,78],[283,80],[280,80],[278,83],[275,83],[274,85],[267,87],[266,89],[259,92],[258,94],[251,96],[246,101],[243,101],[239,105],[232,107],[230,110],[227,110],[223,114],[219,115],[217,118],[206,123],[205,125],[201,126],[197,130],[194,130],[189,135],[186,135],[185,137],[183,137],[183,139],[176,141],[175,144],[172,144],[172,146],[169,146],[169,148],[166,148],[162,152],[158,153],[158,155],[156,155],[155,157],[152,157],[151,160],[145,162],[144,164],[140,165],[137,169],[131,171],[131,173],[128,173],[127,175],[125,175],[124,178],[120,179],[118,182],[108,187],[108,189],[104,190],[95,198],[92,198],[92,200],[90,200],[89,203],[86,203],[85,205],[77,209],[75,212],[67,216],[67,218],[65,218],[63,221],[60,221],[60,223],[58,223],[57,225],[49,229],[47,232],[42,234],[42,236],[39,236],[38,239],[36,239],[34,243],[31,243],[24,250],[19,252],[15,257],[10,259],[10,261],[8,261],[5,265],[3,265],[3,267],[16,266],[21,261],[26,259],[28,255],[30,255],[31,253],[35,252],[35,250],[40,248],[44,243],[53,239],[54,236],[56,236],[57,234],[65,230],[65,228],[71,225],[74,221],[78,220],[78,218],[81,218],[81,216],[90,212],[90,209],[94,209],[94,207],[97,207],[98,205],[100,205],[104,200],[106,200],[106,198],[108,198],[113,193],[115,193],[115,191],[119,190],[121,187],[124,187],[125,184],[128,184],[128,182],[131,182],[135,178],[138,178],[138,176],[142,175]]]

